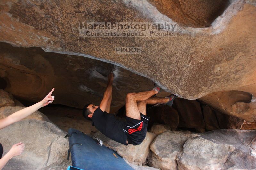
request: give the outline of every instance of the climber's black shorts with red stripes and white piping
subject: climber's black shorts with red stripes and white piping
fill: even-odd
[[[147,127],[149,118],[140,113],[141,120],[125,117],[126,129],[123,129],[127,134],[127,141],[129,144],[138,145],[145,139],[147,134]]]

